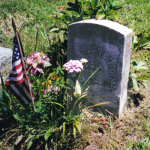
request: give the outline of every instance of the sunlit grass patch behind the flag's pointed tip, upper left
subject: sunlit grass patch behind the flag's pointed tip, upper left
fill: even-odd
[[[50,34],[50,28],[66,27],[57,22],[56,14],[59,13],[58,6],[66,6],[67,1],[48,1],[48,0],[6,0],[1,2],[1,37],[0,44],[12,48],[13,28],[11,17],[15,19],[17,29],[21,34],[21,39],[25,53],[29,54],[35,50],[36,34],[38,29],[37,51],[48,49],[48,38],[54,37]]]

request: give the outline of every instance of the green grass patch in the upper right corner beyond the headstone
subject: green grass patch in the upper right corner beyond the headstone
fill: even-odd
[[[150,1],[149,0],[125,0],[124,6],[129,5],[131,9],[125,8],[119,10],[120,20],[128,23],[136,35],[140,33],[150,36]]]

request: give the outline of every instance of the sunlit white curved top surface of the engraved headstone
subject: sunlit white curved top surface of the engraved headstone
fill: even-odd
[[[109,20],[88,19],[88,20],[82,20],[82,21],[72,23],[69,26],[75,25],[75,24],[84,24],[84,23],[97,24],[97,25],[105,26],[105,27],[111,28],[111,30],[115,30],[116,32],[119,32],[123,35],[128,35],[128,34],[132,33],[131,29],[129,29],[129,28],[117,23],[117,22],[113,22],[113,21],[109,21]]]

